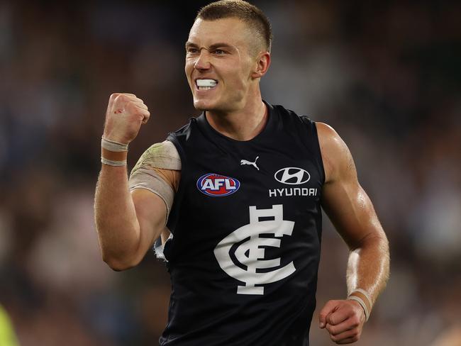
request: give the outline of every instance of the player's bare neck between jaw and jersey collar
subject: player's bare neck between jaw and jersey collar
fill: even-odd
[[[206,120],[219,133],[234,140],[251,140],[255,138],[267,123],[267,107],[261,96],[252,98],[242,109],[220,113],[206,111]]]

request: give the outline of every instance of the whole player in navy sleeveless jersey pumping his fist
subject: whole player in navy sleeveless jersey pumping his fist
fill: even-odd
[[[112,94],[101,140],[95,214],[115,270],[155,246],[172,279],[160,345],[309,345],[316,308],[321,207],[350,249],[347,298],[328,301],[320,328],[359,339],[389,274],[388,242],[333,128],[262,100],[270,66],[266,16],[218,1],[196,17],[185,72],[202,111],[152,145],[130,174],[128,143],[150,113]]]

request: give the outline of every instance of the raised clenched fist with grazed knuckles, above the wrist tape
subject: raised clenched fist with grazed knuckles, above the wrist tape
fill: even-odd
[[[133,94],[112,94],[106,111],[104,138],[128,144],[149,120],[148,106]]]

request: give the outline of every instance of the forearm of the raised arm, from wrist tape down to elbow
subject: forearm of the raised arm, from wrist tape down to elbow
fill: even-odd
[[[126,166],[102,164],[94,214],[104,262],[113,269],[131,267],[140,242],[140,225],[128,189]]]

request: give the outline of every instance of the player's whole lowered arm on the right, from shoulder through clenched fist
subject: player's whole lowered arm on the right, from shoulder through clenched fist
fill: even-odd
[[[328,301],[320,312],[320,326],[328,330],[331,340],[345,344],[359,339],[365,310],[370,313],[386,286],[389,245],[372,202],[357,180],[347,145],[330,126],[316,125],[326,174],[322,206],[349,247],[348,296],[357,299]]]

